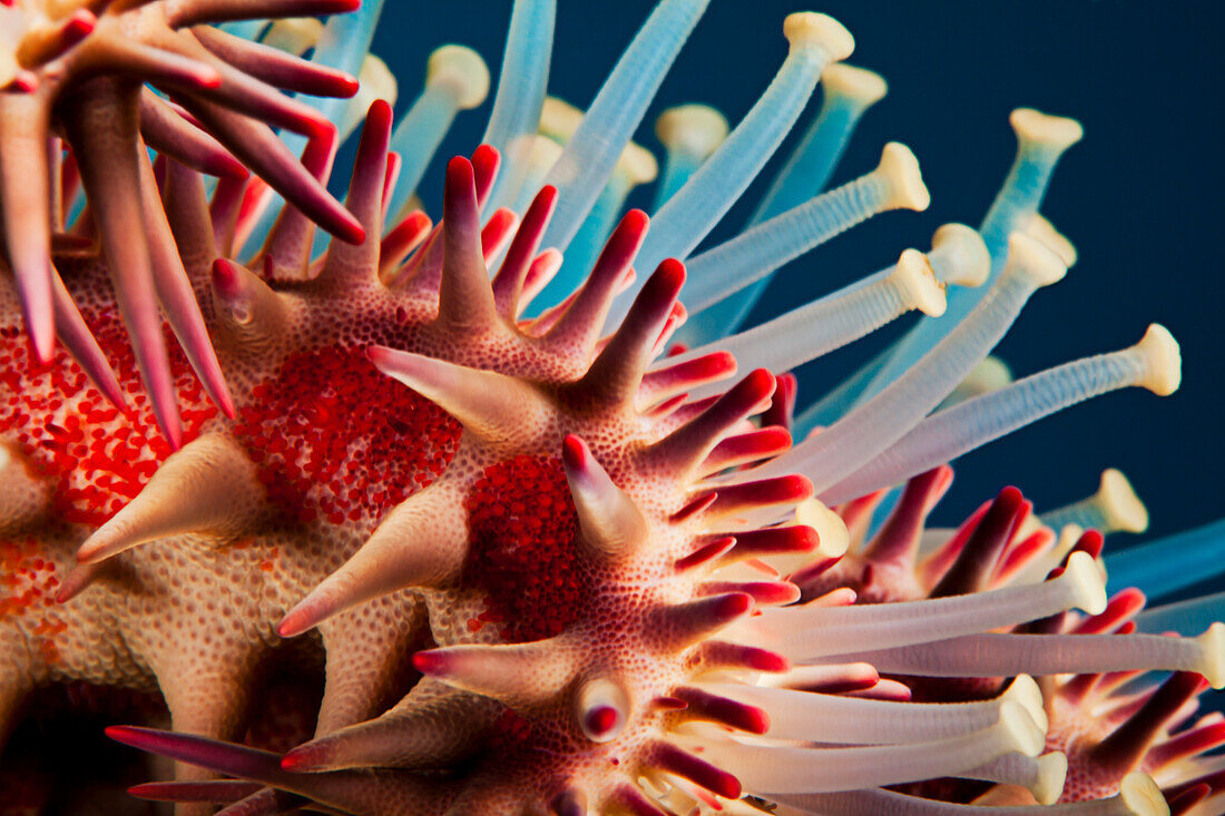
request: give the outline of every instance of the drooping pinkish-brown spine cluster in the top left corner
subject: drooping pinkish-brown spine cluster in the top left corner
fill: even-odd
[[[51,257],[54,246],[89,246],[97,235],[118,314],[131,332],[154,415],[172,445],[180,444],[183,429],[159,305],[214,402],[229,413],[232,401],[152,190],[146,142],[230,180],[249,173],[240,157],[333,233],[361,240],[353,216],[270,127],[334,140],[330,121],[281,89],[352,96],[356,81],[203,25],[354,7],[352,0],[241,6],[224,0],[20,0],[0,7],[0,246],[34,355],[49,361],[58,334],[102,392],[120,399],[120,385]],[[65,145],[71,148],[66,157]],[[64,234],[78,189],[88,196],[92,218],[78,219],[77,232]]]

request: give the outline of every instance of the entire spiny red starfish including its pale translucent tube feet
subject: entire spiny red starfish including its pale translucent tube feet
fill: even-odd
[[[1225,728],[1192,717],[1225,685],[1225,626],[1196,606],[1200,631],[1165,632],[1138,589],[1107,595],[1104,534],[1147,521],[1121,474],[1057,511],[1006,488],[927,524],[962,452],[1177,387],[1159,326],[980,376],[1076,260],[1036,212],[1074,121],[1013,115],[980,229],[724,337],[714,315],[778,267],[929,202],[898,143],[806,186],[883,94],[824,15],[788,17],[735,129],[660,120],[648,217],[621,212],[658,173],[628,138],[706,4],[658,4],[583,113],[545,100],[533,62],[554,4],[518,0],[492,143],[448,162],[432,219],[412,187],[489,74],[436,51],[414,141],[365,54],[377,2],[326,29],[292,16],[356,4],[5,6],[0,749],[18,773],[70,689],[140,723],[113,740],[175,761],[115,812],[1221,812],[1204,755]],[[255,42],[230,22],[247,16],[278,20]],[[755,223],[697,252],[822,77]],[[333,121],[282,89],[356,97]],[[342,207],[325,185],[359,121]],[[273,127],[305,137],[300,161]],[[786,370],[913,310],[889,357],[795,410]],[[61,769],[60,791],[86,784]],[[0,812],[67,807],[9,773]]]

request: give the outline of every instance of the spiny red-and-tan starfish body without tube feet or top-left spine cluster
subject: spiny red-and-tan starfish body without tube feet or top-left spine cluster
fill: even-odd
[[[162,5],[132,9],[208,7]],[[800,614],[1020,587],[1069,565],[1069,551],[1096,557],[1100,537],[1063,546],[1027,524],[1028,504],[1006,489],[920,560],[947,467],[913,479],[866,543],[880,496],[835,508],[855,545],[842,560],[813,554],[807,527],[753,529],[746,518],[788,513],[811,485],[729,486],[718,475],[786,447],[777,425],[794,385],[775,393],[788,380],[753,371],[718,398],[686,402],[730,377],[734,361],[713,354],[648,372],[684,320],[675,261],[600,339],[646,217],[626,216],[572,299],[522,320],[550,262],[539,243],[555,191],[522,213],[492,279],[486,262],[513,217],[494,213],[481,229],[497,165],[488,148],[448,165],[437,230],[414,213],[380,244],[390,129],[390,108],[376,103],[348,200],[365,240],[333,241],[316,262],[301,212],[282,213],[247,268],[227,256],[235,219],[251,214],[218,206],[241,187],[238,197],[222,187],[209,211],[185,164],[162,161],[146,176],[233,388],[233,410],[219,410],[192,361],[172,355],[181,450],[142,395],[123,293],[110,294],[103,260],[55,255],[114,361],[123,412],[66,354],[36,363],[18,292],[0,277],[0,649],[11,657],[0,664],[0,735],[34,692],[85,681],[162,696],[175,734],[109,733],[190,763],[175,771],[183,784],[138,789],[191,803],[184,812],[239,800],[229,812],[307,801],[352,814],[757,812],[737,767],[702,755],[734,752],[735,735],[763,734],[788,711],[722,697],[706,681],[773,675],[767,685],[886,702],[1000,693],[998,678],[789,671],[780,654],[720,637],[744,640],[751,630],[737,626],[801,595],[802,608],[789,606]],[[304,170],[326,176],[332,147],[316,141]],[[1014,633],[1095,637],[1136,610],[1125,597],[1101,615]],[[325,687],[287,690],[287,675],[322,676]],[[1044,680],[1046,746],[1071,761],[1063,798],[1111,796],[1138,769],[1183,796],[1196,768],[1181,761],[1225,740],[1213,719],[1170,734],[1202,684],[1180,673],[1143,701],[1087,717],[1085,697],[1112,702],[1116,680]],[[192,784],[209,772],[239,782]],[[984,788],[907,790],[965,800]],[[1006,785],[986,796],[1033,801]]]

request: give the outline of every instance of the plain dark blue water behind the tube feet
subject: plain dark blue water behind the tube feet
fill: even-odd
[[[560,0],[559,6],[549,89],[586,107],[653,4]],[[401,80],[397,109],[412,103],[426,54],[442,43],[478,49],[496,82],[510,7],[510,0],[387,0],[374,50]],[[806,9],[846,25],[856,39],[849,61],[889,82],[888,97],[865,116],[834,181],[871,169],[883,142],[899,140],[919,156],[933,202],[922,214],[878,217],[801,259],[785,273],[785,293],[775,279],[755,317],[875,271],[908,245],[925,249],[942,222],[976,224],[1012,161],[1012,108],[1077,116],[1085,138],[1061,163],[1042,211],[1077,244],[1080,262],[1030,301],[998,353],[1020,376],[1121,348],[1160,321],[1182,343],[1183,387],[1166,399],[1137,390],[1114,393],[962,458],[941,516],[956,521],[1007,483],[1039,510],[1050,508],[1090,493],[1107,466],[1127,473],[1148,504],[1148,538],[1220,516],[1220,4],[713,0],[639,141],[658,151],[654,118],[682,102],[706,102],[733,124],[739,120],[785,55],[783,17]],[[816,105],[815,98],[805,120]],[[461,115],[445,152],[472,148],[489,107]],[[777,167],[772,162],[763,179]],[[435,167],[423,185],[432,212],[440,184]],[[730,213],[717,238],[744,223],[762,189],[750,190],[748,205]],[[889,334],[806,366],[801,402],[835,385]]]

